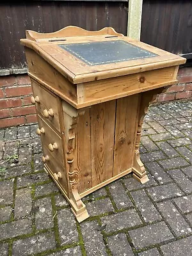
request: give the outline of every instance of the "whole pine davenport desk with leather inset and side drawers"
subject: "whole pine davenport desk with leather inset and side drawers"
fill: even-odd
[[[154,96],[177,82],[186,60],[113,28],[26,31],[20,42],[45,172],[83,221],[83,196],[131,172],[147,182],[139,153],[143,117]]]

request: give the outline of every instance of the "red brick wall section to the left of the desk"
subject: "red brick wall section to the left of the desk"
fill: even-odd
[[[0,77],[0,127],[36,122],[28,75]]]

